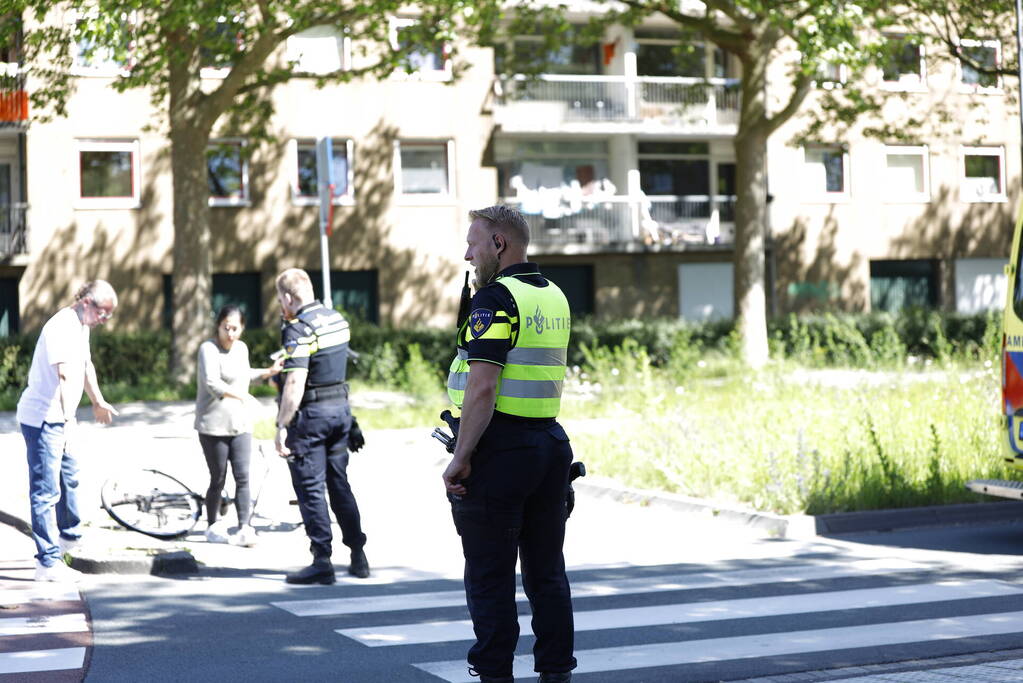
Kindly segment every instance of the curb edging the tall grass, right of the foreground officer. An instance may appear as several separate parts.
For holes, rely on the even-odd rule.
[[[757,510],[692,498],[680,494],[632,489],[618,486],[611,480],[582,482],[572,485],[578,493],[607,498],[622,503],[648,505],[683,514],[711,517],[748,527],[770,536],[807,539],[814,536],[884,533],[899,529],[973,525],[988,521],[1023,520],[1023,505],[1019,501],[996,503],[957,503],[928,507],[907,507],[889,510],[863,510],[831,514],[772,514]]]

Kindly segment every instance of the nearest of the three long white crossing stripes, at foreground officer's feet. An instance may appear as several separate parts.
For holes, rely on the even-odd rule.
[[[1011,611],[815,631],[605,647],[576,651],[579,666],[573,673],[589,674],[671,667],[1020,632],[1023,632],[1023,611]],[[471,683],[476,680],[466,672],[464,659],[428,662],[412,666],[449,683]],[[516,656],[514,666],[516,678],[536,676],[533,673],[533,657],[530,655]]]

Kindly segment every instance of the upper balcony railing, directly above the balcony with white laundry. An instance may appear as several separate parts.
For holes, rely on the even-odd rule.
[[[506,132],[735,135],[739,125],[739,81],[726,79],[516,76],[495,81],[494,96]]]

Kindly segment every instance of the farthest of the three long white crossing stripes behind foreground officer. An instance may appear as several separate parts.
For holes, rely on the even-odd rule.
[[[673,574],[639,579],[608,579],[572,584],[572,597],[608,597],[636,593],[693,590],[723,586],[752,586],[768,583],[796,583],[875,574],[890,575],[924,568],[923,564],[897,559],[861,559],[842,564],[800,564],[760,570],[738,570],[722,573]],[[516,600],[525,602],[519,591]],[[465,604],[465,593],[436,591],[432,593],[406,593],[404,595],[374,595],[369,597],[332,598],[326,600],[283,600],[271,602],[275,607],[296,617],[332,617],[405,609],[431,609],[458,607]]]

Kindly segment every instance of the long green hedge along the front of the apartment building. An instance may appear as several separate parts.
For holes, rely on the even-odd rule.
[[[935,311],[890,314],[824,314],[787,316],[770,321],[772,356],[791,358],[811,366],[869,366],[900,364],[907,355],[943,360],[954,357],[995,359],[1000,338],[997,314],[960,315]],[[572,329],[569,363],[582,365],[582,346],[618,347],[633,339],[655,365],[668,363],[679,347],[693,353],[732,353],[731,322],[686,323],[661,320],[579,320]],[[350,376],[380,379],[393,376],[394,367],[408,361],[409,349],[418,347],[427,366],[438,377],[446,374],[452,356],[454,332],[450,329],[393,329],[371,323],[352,325],[352,349],[358,354],[349,366]],[[254,367],[269,364],[279,347],[276,329],[248,329]],[[107,332],[93,336],[93,360],[104,386],[167,386],[170,333],[161,331]],[[25,386],[36,335],[0,338],[0,394]],[[394,367],[392,367],[394,366]],[[187,393],[182,390],[182,393]]]

